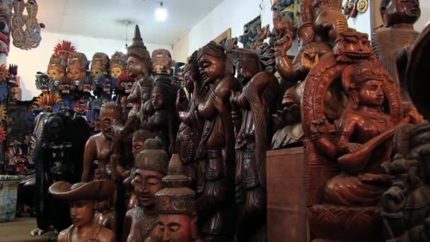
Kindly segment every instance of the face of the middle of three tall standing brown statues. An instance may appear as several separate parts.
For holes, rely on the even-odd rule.
[[[215,81],[225,73],[225,64],[222,59],[203,54],[199,59],[199,71],[204,82]]]

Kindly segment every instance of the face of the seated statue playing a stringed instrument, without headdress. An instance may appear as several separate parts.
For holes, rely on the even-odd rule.
[[[379,107],[383,104],[383,82],[376,80],[369,80],[361,84],[358,90],[360,105],[368,107]]]

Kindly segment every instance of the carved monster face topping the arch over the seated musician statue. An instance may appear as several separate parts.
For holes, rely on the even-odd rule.
[[[353,63],[373,57],[368,35],[356,31],[341,33],[333,48],[337,61]]]

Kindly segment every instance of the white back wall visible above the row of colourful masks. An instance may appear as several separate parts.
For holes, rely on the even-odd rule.
[[[104,52],[110,57],[115,51],[123,51],[125,46],[124,40],[109,40],[49,32],[42,32],[42,42],[40,42],[39,47],[33,50],[21,50],[13,47],[11,44],[11,51],[9,52],[7,62],[18,65],[18,76],[21,76],[23,100],[30,100],[34,96],[39,96],[40,91],[35,86],[35,74],[37,71],[46,73],[55,45],[61,43],[63,40],[71,41],[72,45],[76,47],[76,51],[86,54],[89,61],[91,61],[95,52]],[[130,43],[131,41],[129,41],[129,45]],[[169,45],[156,45],[146,42],[145,45],[150,54],[158,48],[164,48],[171,52]]]

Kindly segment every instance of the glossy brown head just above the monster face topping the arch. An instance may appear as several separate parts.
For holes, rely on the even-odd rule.
[[[334,42],[340,33],[348,30],[347,18],[345,18],[341,9],[322,7],[318,11],[313,23],[315,32],[319,35],[326,36]]]

